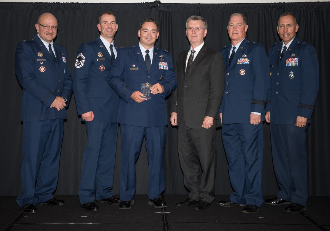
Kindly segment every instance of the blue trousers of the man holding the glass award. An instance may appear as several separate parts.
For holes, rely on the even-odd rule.
[[[149,199],[156,199],[165,189],[164,182],[164,148],[166,126],[138,127],[120,125],[121,165],[120,165],[120,200],[134,199],[136,190],[135,162],[139,157],[143,137],[146,137],[146,148],[149,163]]]

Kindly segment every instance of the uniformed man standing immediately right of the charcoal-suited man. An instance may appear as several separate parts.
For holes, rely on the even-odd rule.
[[[235,13],[229,17],[231,45],[221,50],[226,65],[225,90],[220,106],[222,141],[234,189],[224,207],[246,205],[242,212],[257,212],[263,203],[263,134],[269,83],[264,47],[249,42],[247,19]]]

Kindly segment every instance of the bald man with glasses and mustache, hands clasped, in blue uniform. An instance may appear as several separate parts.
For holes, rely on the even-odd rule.
[[[37,212],[36,204],[62,206],[53,193],[58,180],[65,108],[72,78],[65,49],[53,42],[57,20],[44,13],[35,24],[37,35],[17,45],[15,72],[23,88],[22,191],[17,204],[23,213]]]

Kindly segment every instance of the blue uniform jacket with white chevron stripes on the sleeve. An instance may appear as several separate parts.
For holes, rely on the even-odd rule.
[[[93,111],[92,122],[117,123],[119,97],[108,84],[111,66],[111,55],[100,38],[79,47],[74,95],[78,114]]]

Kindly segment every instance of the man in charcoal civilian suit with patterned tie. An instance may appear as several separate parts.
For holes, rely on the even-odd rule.
[[[186,21],[190,48],[178,56],[178,88],[172,96],[171,123],[178,126],[178,152],[189,196],[179,207],[206,210],[215,198],[215,131],[224,89],[220,52],[207,47],[207,22],[191,16]],[[200,176],[201,174],[201,176]]]

